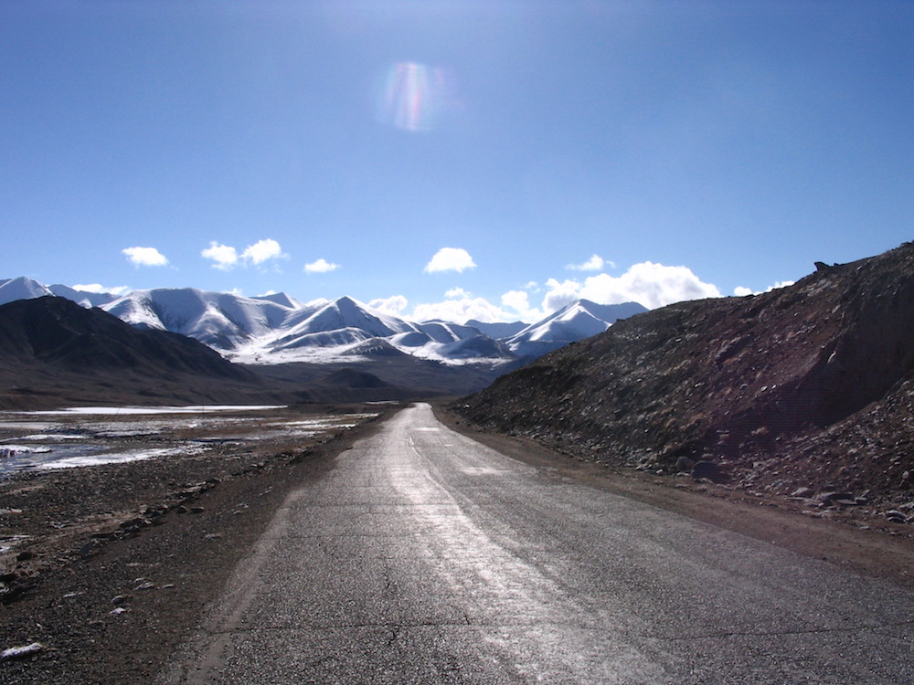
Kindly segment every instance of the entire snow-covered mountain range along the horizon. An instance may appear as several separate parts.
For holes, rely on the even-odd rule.
[[[243,364],[345,364],[408,355],[446,365],[515,367],[646,311],[635,302],[578,300],[527,325],[413,322],[343,297],[303,304],[283,293],[242,297],[193,288],[110,293],[0,280],[0,304],[54,295],[98,307],[139,329],[180,333]]]

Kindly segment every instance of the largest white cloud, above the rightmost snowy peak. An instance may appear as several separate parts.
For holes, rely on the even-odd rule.
[[[547,281],[543,299],[545,311],[556,311],[574,300],[584,298],[600,304],[640,302],[656,309],[673,302],[720,297],[720,290],[699,279],[687,267],[667,267],[645,261],[634,264],[622,276],[598,274],[580,283],[577,280]]]

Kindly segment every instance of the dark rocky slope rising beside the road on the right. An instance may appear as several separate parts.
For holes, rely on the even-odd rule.
[[[907,489],[914,243],[817,268],[790,288],[618,321],[454,408],[611,464],[707,460],[780,494]]]

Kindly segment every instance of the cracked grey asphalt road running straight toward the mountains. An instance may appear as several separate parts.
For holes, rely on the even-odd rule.
[[[388,420],[164,682],[914,683],[914,595]]]

